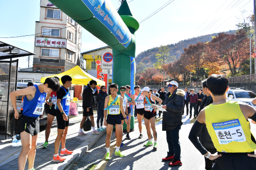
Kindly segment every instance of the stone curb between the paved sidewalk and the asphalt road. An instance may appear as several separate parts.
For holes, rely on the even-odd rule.
[[[106,132],[107,130],[104,129],[99,135],[90,136],[74,150],[72,155],[67,156],[67,159],[68,157],[70,158],[67,162],[64,161],[63,163],[58,163],[52,169],[70,169]]]

